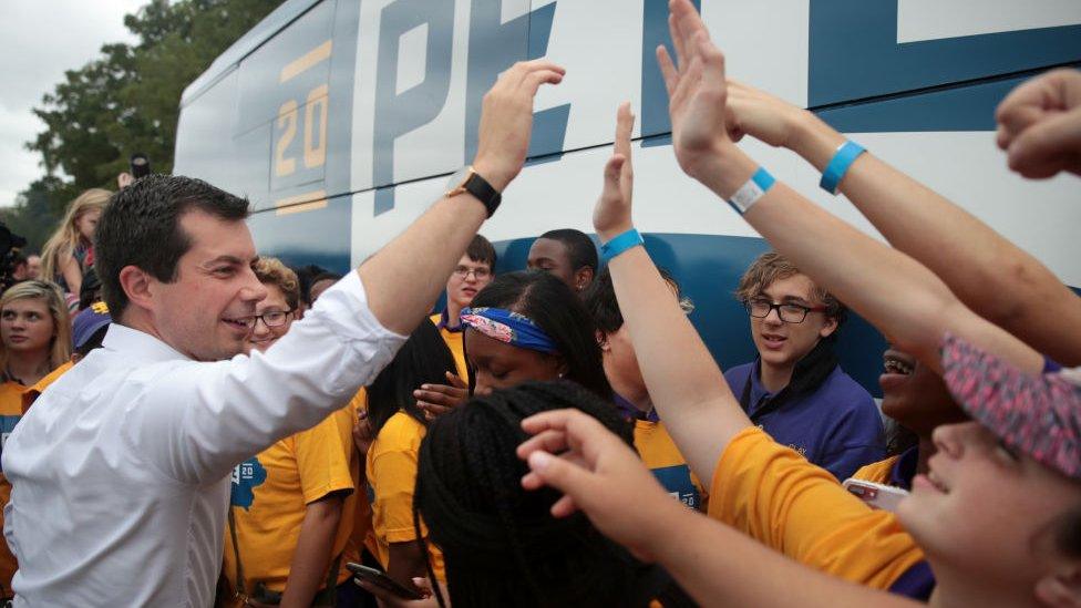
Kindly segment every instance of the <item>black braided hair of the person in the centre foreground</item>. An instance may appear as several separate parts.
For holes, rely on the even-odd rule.
[[[522,420],[564,408],[586,412],[632,444],[632,427],[611,403],[568,381],[475,396],[429,426],[418,462],[414,526],[420,529],[423,518],[425,542],[443,552],[454,606],[646,606],[675,586],[584,515],[553,517],[557,491],[522,487],[528,471],[515,453],[527,437]]]

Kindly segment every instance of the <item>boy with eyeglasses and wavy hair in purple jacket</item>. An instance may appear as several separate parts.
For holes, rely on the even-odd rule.
[[[885,457],[878,409],[832,349],[844,305],[775,251],[751,264],[735,295],[759,357],[724,379],[751,421],[841,481]]]

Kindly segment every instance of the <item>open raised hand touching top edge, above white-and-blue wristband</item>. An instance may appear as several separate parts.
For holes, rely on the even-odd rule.
[[[702,179],[723,153],[734,148],[725,126],[724,55],[710,42],[689,0],[671,0],[669,8],[677,61],[663,45],[657,48],[657,61],[668,90],[672,145],[683,172]]]

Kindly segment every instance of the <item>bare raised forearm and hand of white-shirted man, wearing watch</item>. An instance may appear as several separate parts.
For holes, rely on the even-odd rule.
[[[503,192],[522,171],[533,126],[533,99],[564,70],[543,60],[516,63],[484,95],[473,168]],[[361,265],[368,306],[391,331],[409,334],[446,285],[446,277],[487,217],[470,194],[444,197]]]

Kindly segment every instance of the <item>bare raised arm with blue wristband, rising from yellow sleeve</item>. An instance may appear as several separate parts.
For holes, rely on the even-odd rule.
[[[605,166],[604,192],[593,218],[605,244],[634,227],[634,123],[628,104],[622,104],[615,154]],[[751,421],[646,249],[634,247],[616,256],[608,269],[649,395],[691,471],[709,483],[729,440]],[[679,415],[668,415],[677,410]]]

